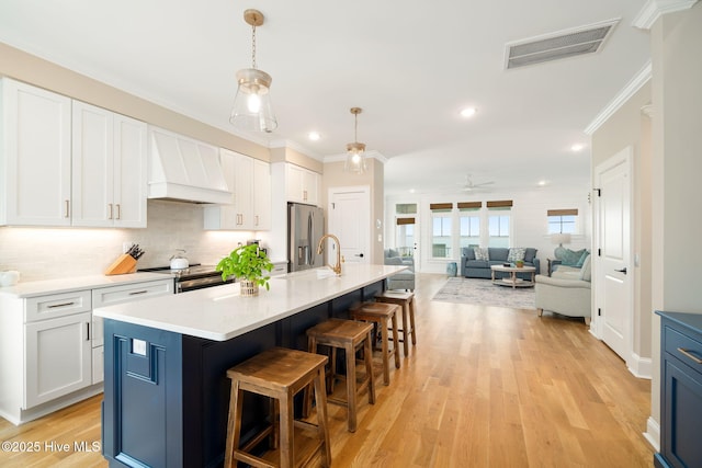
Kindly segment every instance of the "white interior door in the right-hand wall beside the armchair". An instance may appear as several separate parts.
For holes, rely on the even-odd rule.
[[[633,332],[631,258],[631,148],[597,168],[598,265],[596,267],[600,338],[629,362]]]

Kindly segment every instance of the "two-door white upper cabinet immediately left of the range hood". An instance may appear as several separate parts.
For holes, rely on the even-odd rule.
[[[79,101],[72,121],[72,225],[146,227],[146,124]]]

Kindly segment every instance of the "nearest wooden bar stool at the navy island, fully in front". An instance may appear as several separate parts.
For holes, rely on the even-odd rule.
[[[239,460],[254,467],[292,468],[307,464],[317,450],[321,452],[322,466],[331,465],[329,427],[327,425],[327,389],[325,387],[327,361],[326,356],[319,354],[273,347],[227,370],[227,377],[231,379],[231,396],[225,467],[235,467]],[[295,395],[313,383],[317,406],[317,424],[295,420],[293,413]],[[271,398],[274,411],[271,415],[271,425],[257,434],[245,446],[239,447],[244,391]],[[279,413],[280,422],[278,421]],[[314,443],[305,444],[307,449],[301,449],[298,454],[295,450],[295,426],[313,430],[315,433]],[[276,430],[280,431],[280,444]],[[302,434],[298,435],[302,441]],[[250,454],[251,449],[267,436],[272,438],[271,448],[279,448],[278,445],[280,445],[280,463],[269,461]],[[267,456],[267,458],[272,457]]]

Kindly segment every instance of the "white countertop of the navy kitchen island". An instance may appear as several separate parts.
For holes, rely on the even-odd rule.
[[[270,290],[261,287],[254,297],[240,296],[239,285],[229,284],[101,307],[93,313],[159,330],[226,341],[403,270],[406,266],[344,263],[341,276],[333,275],[328,267],[274,276],[269,281]]]

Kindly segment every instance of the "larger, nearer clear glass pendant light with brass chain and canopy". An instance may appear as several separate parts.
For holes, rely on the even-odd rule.
[[[273,113],[269,93],[273,79],[265,71],[256,68],[256,26],[263,24],[263,13],[246,10],[244,20],[251,25],[251,68],[237,71],[239,89],[234,99],[229,122],[235,127],[249,132],[273,132],[278,121]]]

